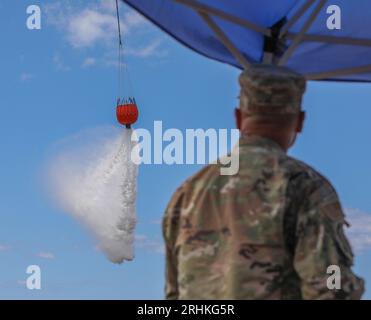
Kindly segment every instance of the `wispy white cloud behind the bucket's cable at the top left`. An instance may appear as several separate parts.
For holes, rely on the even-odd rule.
[[[114,1],[95,0],[89,2],[56,1],[45,5],[47,23],[55,26],[73,48],[89,49],[103,47],[106,52],[117,48],[117,17]],[[122,7],[121,7],[122,9]],[[135,11],[120,10],[121,32],[125,54],[139,58],[163,57],[167,52],[161,48],[159,39],[148,37],[150,23]],[[147,36],[146,36],[147,35]],[[151,40],[148,40],[151,38]],[[144,40],[146,39],[146,40]],[[138,44],[139,42],[139,44]],[[135,43],[135,47],[131,47]],[[95,64],[104,59],[96,59]],[[105,63],[105,65],[110,65]]]

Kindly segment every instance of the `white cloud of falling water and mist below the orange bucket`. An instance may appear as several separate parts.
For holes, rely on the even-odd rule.
[[[137,165],[133,131],[87,130],[56,146],[48,170],[59,206],[78,219],[114,263],[134,258]]]

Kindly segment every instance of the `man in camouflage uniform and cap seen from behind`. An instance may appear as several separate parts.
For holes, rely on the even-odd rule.
[[[335,189],[286,154],[302,129],[305,79],[255,66],[240,85],[239,172],[205,167],[166,209],[166,297],[360,299]],[[331,265],[340,267],[341,289],[327,287]]]

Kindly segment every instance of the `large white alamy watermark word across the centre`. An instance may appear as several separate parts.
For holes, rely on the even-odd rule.
[[[153,134],[135,129],[131,160],[136,164],[221,164],[221,175],[235,175],[239,170],[238,129],[163,129],[154,121]],[[229,142],[228,143],[228,138]],[[228,154],[228,145],[233,146]]]

